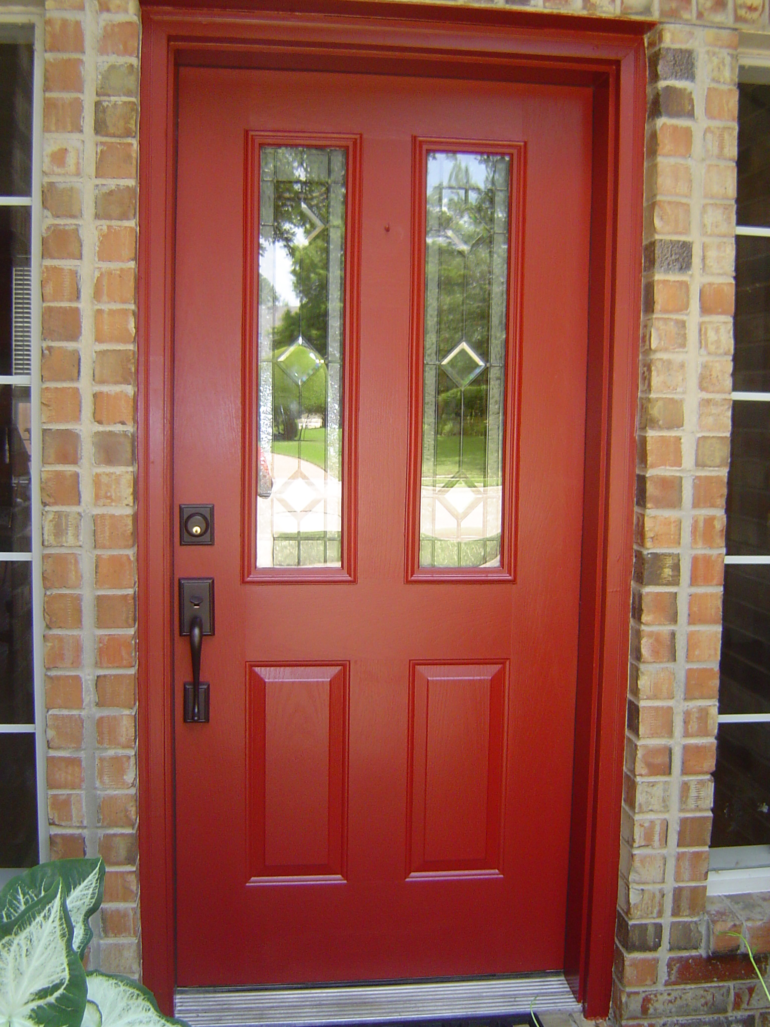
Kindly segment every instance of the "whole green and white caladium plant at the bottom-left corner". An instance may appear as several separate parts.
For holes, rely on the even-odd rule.
[[[182,1027],[136,981],[83,968],[104,886],[101,859],[59,860],[0,891],[0,1027]]]

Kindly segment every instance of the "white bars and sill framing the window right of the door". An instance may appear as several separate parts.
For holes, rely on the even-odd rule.
[[[770,84],[770,42],[759,33],[741,33],[739,81]],[[770,237],[770,228],[736,225],[735,235]],[[733,391],[733,403],[770,403],[768,392]],[[768,565],[770,554],[763,556],[726,556],[725,565]],[[720,724],[770,723],[770,713],[720,714]],[[706,895],[745,895],[770,891],[770,845],[742,845],[713,848],[709,853]]]

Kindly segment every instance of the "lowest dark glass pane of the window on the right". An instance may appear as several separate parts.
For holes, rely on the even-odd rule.
[[[711,845],[770,844],[770,724],[720,724]]]

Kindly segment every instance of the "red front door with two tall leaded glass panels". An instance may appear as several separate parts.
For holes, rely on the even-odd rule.
[[[184,68],[178,983],[561,968],[591,102]]]

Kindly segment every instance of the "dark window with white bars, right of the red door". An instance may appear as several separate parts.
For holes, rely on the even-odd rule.
[[[770,890],[770,68],[741,70],[735,351],[709,893]]]

